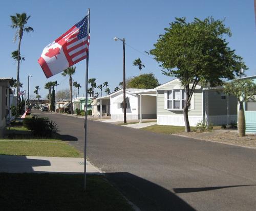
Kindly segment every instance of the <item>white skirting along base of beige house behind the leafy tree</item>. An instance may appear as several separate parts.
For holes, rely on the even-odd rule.
[[[203,120],[202,116],[188,116],[189,125],[196,126]],[[157,124],[185,126],[183,116],[157,116]]]

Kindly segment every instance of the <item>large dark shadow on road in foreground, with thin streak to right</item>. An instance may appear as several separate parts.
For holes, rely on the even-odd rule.
[[[225,188],[255,185],[238,185],[203,188],[175,188],[169,191],[158,184],[128,172],[105,173],[106,177],[141,210],[196,210],[176,194],[212,191]]]

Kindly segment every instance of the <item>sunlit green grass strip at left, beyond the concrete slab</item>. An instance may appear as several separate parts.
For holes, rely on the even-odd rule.
[[[53,157],[81,157],[82,155],[66,142],[33,140],[1,140],[0,154]]]

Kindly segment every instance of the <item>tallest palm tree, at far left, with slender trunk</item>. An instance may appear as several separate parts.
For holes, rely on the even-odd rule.
[[[16,29],[16,33],[15,33],[15,36],[14,36],[14,41],[17,40],[17,38],[19,39],[18,41],[18,52],[17,52],[17,61],[18,61],[18,65],[17,65],[17,96],[18,96],[18,92],[19,92],[19,59],[22,59],[20,58],[20,43],[22,42],[22,37],[23,37],[23,33],[24,32],[34,32],[33,28],[31,27],[27,27],[26,24],[28,23],[28,20],[30,18],[30,15],[27,16],[26,13],[22,13],[22,14],[19,14],[19,13],[16,13],[16,15],[11,15],[11,21],[12,21],[12,24],[11,24],[11,28],[12,29]],[[16,107],[18,108],[18,97],[17,97],[17,102],[16,102]]]

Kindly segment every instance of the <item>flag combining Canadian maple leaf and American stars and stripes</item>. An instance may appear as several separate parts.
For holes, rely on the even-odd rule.
[[[89,40],[87,15],[42,51],[38,63],[46,77],[51,77],[86,59]]]

